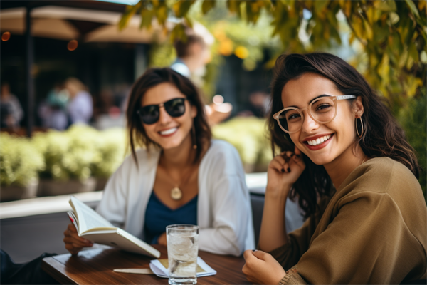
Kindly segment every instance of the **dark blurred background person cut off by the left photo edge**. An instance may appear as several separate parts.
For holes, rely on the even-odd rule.
[[[23,118],[23,110],[18,98],[11,94],[9,83],[1,83],[0,128],[16,129]]]

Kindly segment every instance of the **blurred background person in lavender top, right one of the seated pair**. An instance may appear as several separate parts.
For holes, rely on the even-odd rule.
[[[88,89],[77,78],[70,77],[64,83],[70,100],[67,105],[69,124],[88,124],[93,115],[93,99]]]

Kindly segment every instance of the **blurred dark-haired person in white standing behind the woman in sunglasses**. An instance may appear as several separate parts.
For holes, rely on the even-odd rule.
[[[196,86],[201,87],[203,85],[203,76],[206,73],[206,63],[211,60],[210,47],[214,43],[214,36],[199,23],[194,23],[193,28],[187,27],[185,36],[185,39],[179,39],[174,42],[177,58],[172,63],[171,68],[183,76],[191,78],[191,81]],[[223,103],[223,98],[206,105],[205,108],[208,123],[211,126],[226,120],[231,115],[231,110],[233,110],[233,106],[230,103]]]

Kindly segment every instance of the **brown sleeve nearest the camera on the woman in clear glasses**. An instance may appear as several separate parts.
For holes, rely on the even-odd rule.
[[[422,259],[421,245],[386,193],[359,192],[342,199],[336,210],[293,267],[292,274],[308,284],[399,284],[405,277],[399,274]],[[281,284],[304,284],[286,278]]]

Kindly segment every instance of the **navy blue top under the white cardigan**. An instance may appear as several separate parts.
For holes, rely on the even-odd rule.
[[[169,224],[197,224],[197,196],[177,209],[170,209],[153,191],[145,210],[145,242],[157,244]]]

